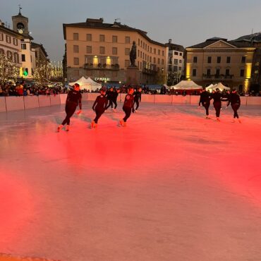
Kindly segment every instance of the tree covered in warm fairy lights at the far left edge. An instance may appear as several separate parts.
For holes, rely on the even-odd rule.
[[[5,84],[9,80],[16,81],[19,75],[19,68],[14,66],[11,59],[0,53],[0,83]]]

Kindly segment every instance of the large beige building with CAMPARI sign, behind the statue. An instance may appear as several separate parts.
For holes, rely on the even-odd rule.
[[[90,76],[94,80],[126,83],[130,49],[136,44],[139,83],[165,83],[168,47],[147,37],[147,32],[121,23],[87,19],[63,24],[68,80]]]

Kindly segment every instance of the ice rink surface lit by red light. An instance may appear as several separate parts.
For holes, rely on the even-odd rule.
[[[0,113],[0,253],[63,261],[261,260],[261,107],[242,123],[140,104]]]

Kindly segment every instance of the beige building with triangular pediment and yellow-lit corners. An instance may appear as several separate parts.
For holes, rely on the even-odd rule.
[[[223,83],[248,91],[255,47],[248,42],[211,38],[186,48],[186,79],[202,86]]]

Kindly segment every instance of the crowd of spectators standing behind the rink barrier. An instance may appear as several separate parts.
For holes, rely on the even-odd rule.
[[[133,86],[133,85],[132,85]],[[120,89],[121,93],[127,93],[128,87],[130,85],[120,85],[115,86],[114,89]],[[134,86],[138,89],[138,87],[142,87],[142,93],[148,95],[200,95],[200,90],[169,90],[165,85],[159,88],[151,88],[146,85],[137,85]],[[18,82],[15,85],[12,83],[6,83],[5,85],[0,84],[0,96],[27,96],[27,95],[57,95],[57,94],[66,94],[70,90],[69,87],[65,87],[64,85],[56,84],[56,85],[43,85],[41,87],[34,84],[26,84],[25,81]],[[81,90],[81,92],[90,92],[89,90]],[[99,92],[99,89],[92,91]],[[241,96],[261,96],[261,92],[238,92]]]

